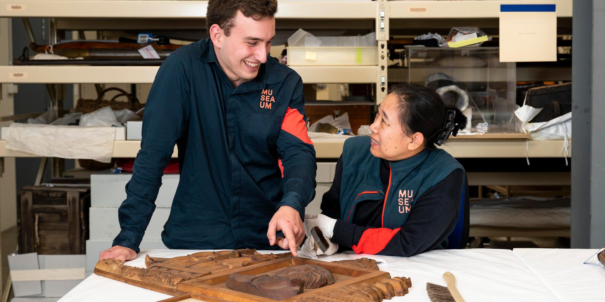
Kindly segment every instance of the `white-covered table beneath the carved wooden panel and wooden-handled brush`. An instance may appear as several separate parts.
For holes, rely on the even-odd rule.
[[[137,259],[126,265],[145,267],[145,255],[177,257],[202,250],[154,249],[142,251]],[[272,251],[259,251],[269,253]],[[275,251],[273,251],[275,252]],[[391,277],[411,277],[412,288],[404,297],[393,302],[430,301],[426,283],[445,285],[443,272],[452,272],[457,287],[466,301],[560,301],[523,260],[508,249],[450,249],[430,251],[413,257],[354,254],[344,252],[320,260],[332,261],[373,257],[386,263],[379,264]],[[604,269],[605,270],[605,269]],[[137,288],[120,281],[90,275],[68,292],[60,302],[71,301],[159,301],[171,296],[148,289]]]

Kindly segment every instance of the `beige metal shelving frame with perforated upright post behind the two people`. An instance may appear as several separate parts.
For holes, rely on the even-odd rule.
[[[546,2],[557,5],[558,17],[572,16],[572,0]],[[495,19],[499,17],[500,4],[540,3],[545,0],[281,1],[276,19],[278,24],[280,20],[303,22],[307,19],[332,21],[331,25],[373,21],[379,51],[377,66],[290,67],[305,83],[375,83],[379,103],[386,95],[388,83],[390,19]],[[208,1],[1,0],[0,17],[53,18],[52,26],[64,24],[63,29],[70,30],[87,22],[101,27],[110,22],[114,24],[112,28],[118,29],[120,24],[133,25],[137,20],[151,19],[157,20],[158,24],[171,19],[193,24],[197,19],[205,18],[207,5]],[[158,66],[0,66],[0,83],[152,83],[157,69]],[[531,71],[525,72],[531,74]],[[139,144],[138,141],[116,141],[114,156],[134,157]],[[342,144],[342,140],[316,140],[318,158],[338,158]],[[445,149],[458,158],[560,157],[563,149],[563,141],[529,141],[529,152],[525,140],[456,140],[448,145]],[[0,141],[0,157],[13,156],[31,155],[7,150],[5,141]]]

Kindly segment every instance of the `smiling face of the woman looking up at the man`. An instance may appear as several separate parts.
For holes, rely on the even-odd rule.
[[[424,149],[422,133],[416,132],[411,136],[405,133],[399,121],[397,97],[392,93],[380,104],[370,129],[372,130],[370,152],[378,158],[399,161],[410,158]]]

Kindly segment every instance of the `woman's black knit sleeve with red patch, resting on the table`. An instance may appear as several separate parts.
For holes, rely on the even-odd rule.
[[[339,220],[333,242],[365,254],[411,256],[438,248],[456,227],[464,172],[454,170],[414,202],[407,222],[395,230]]]

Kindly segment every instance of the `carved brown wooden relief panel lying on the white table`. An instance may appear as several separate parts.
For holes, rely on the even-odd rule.
[[[100,260],[95,274],[174,295],[209,302],[380,302],[408,293],[410,278],[391,278],[371,259],[320,260],[254,249],[145,257],[146,268]]]

